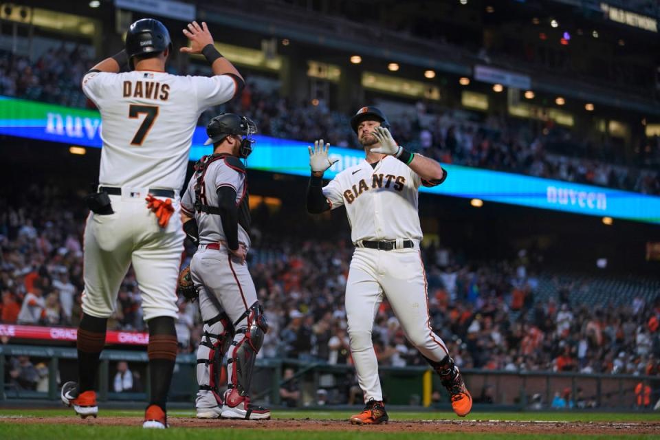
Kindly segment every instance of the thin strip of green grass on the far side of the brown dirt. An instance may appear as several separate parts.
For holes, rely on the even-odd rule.
[[[21,417],[61,417],[72,416],[74,412],[69,409],[5,409],[0,408],[0,419],[8,416]],[[99,417],[140,417],[144,413],[142,410],[104,410],[99,411]],[[353,412],[347,411],[290,411],[274,410],[274,419],[328,419],[344,420],[348,419]],[[461,419],[456,417],[453,412],[405,412],[390,411],[388,415],[391,420],[517,420],[517,421],[613,421],[613,422],[641,422],[641,421],[660,421],[660,415],[657,412],[472,412],[470,415]],[[195,417],[195,411],[190,410],[170,410],[168,417]]]

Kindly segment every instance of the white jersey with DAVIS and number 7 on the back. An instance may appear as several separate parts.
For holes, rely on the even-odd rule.
[[[199,115],[230,100],[236,83],[228,75],[89,72],[83,91],[102,118],[99,183],[179,190]]]

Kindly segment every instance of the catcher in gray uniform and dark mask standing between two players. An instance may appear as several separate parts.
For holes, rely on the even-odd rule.
[[[179,276],[179,292],[188,297],[199,293],[204,321],[197,350],[197,417],[269,419],[270,410],[252,405],[249,395],[256,353],[268,329],[245,263],[250,208],[241,158],[252,151],[256,125],[223,113],[210,120],[206,133],[205,145],[213,144],[213,154],[195,164],[181,198],[184,230],[199,242],[190,267]],[[221,395],[219,373],[228,350],[228,389]]]

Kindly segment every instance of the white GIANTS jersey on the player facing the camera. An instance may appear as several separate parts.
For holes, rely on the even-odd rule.
[[[422,239],[417,201],[422,179],[408,165],[385,156],[373,168],[363,160],[323,187],[331,208],[346,206],[353,243]],[[424,182],[429,185],[430,183]]]

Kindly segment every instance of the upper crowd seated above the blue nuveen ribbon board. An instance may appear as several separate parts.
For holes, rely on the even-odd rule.
[[[91,106],[79,87],[90,65],[89,54],[78,46],[51,48],[34,62],[0,52],[0,95],[69,107]],[[184,72],[170,69],[177,74],[208,74],[208,67],[199,65],[190,65]],[[329,110],[322,101],[291,102],[276,91],[259,89],[249,78],[248,83],[240,100],[206,111],[200,124],[220,111],[235,111],[249,115],[264,135],[309,141],[322,138],[338,146],[358,147],[349,115]],[[462,111],[417,102],[415,111],[391,117],[391,122],[399,143],[444,163],[660,194],[659,137],[637,148],[635,163],[646,166],[643,169],[622,165],[629,162],[610,139],[598,142],[604,145],[599,147],[551,120],[543,124],[504,116],[474,120]]]

